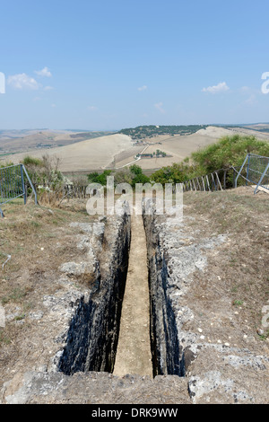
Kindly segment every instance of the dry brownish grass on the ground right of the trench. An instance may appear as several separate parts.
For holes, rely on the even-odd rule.
[[[246,187],[187,193],[184,203],[187,215],[195,217],[192,226],[198,237],[227,234],[229,239],[221,253],[209,259],[205,276],[195,274],[200,286],[196,295],[201,298],[212,291],[213,300],[218,294],[227,297],[234,312],[239,312],[242,327],[256,333],[269,300],[269,196],[253,192]],[[264,337],[256,335],[267,336],[267,330]]]

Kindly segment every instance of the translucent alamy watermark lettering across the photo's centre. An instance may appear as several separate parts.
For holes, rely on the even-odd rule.
[[[89,215],[170,215],[183,217],[182,183],[128,183],[114,184],[108,176],[107,185],[91,183],[86,193],[90,195],[86,204]]]

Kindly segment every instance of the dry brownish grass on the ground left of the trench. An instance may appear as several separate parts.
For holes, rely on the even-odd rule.
[[[85,201],[72,201],[59,207],[23,205],[21,199],[4,207],[0,219],[0,304],[5,314],[16,312],[12,322],[0,329],[1,344],[16,344],[18,333],[27,330],[20,324],[26,312],[34,312],[40,295],[52,295],[59,266],[78,259],[74,247],[78,229],[72,222],[89,222]],[[11,256],[5,264],[7,255]],[[4,264],[4,268],[3,268]]]

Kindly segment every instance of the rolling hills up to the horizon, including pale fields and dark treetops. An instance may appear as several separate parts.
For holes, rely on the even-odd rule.
[[[20,163],[26,155],[41,158],[42,155],[48,154],[60,159],[59,168],[65,172],[115,170],[137,162],[143,171],[151,173],[161,167],[182,162],[187,156],[213,144],[221,136],[239,133],[269,140],[268,127],[269,125],[265,124],[246,127],[197,125],[189,127],[188,132],[187,127],[151,126],[123,129],[114,134],[39,131],[24,134],[21,138],[12,134],[14,137],[10,136],[8,141],[6,138],[4,140],[3,134],[0,133],[0,163]],[[142,134],[147,137],[142,137]],[[6,145],[9,146],[8,153],[4,153]],[[17,153],[16,148],[19,147],[21,150]],[[158,149],[165,156],[156,157]],[[12,155],[9,155],[10,153]],[[147,156],[139,157],[142,153]]]

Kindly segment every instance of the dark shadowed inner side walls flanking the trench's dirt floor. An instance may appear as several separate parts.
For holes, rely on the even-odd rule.
[[[157,239],[152,237],[150,220],[144,223],[148,248],[152,375],[182,376],[176,321],[166,295],[167,268]],[[128,219],[125,224],[129,224]],[[90,299],[82,298],[71,321],[58,363],[58,370],[67,375],[88,371],[113,373],[126,289],[130,227],[126,225],[121,233],[110,277],[100,277]]]

